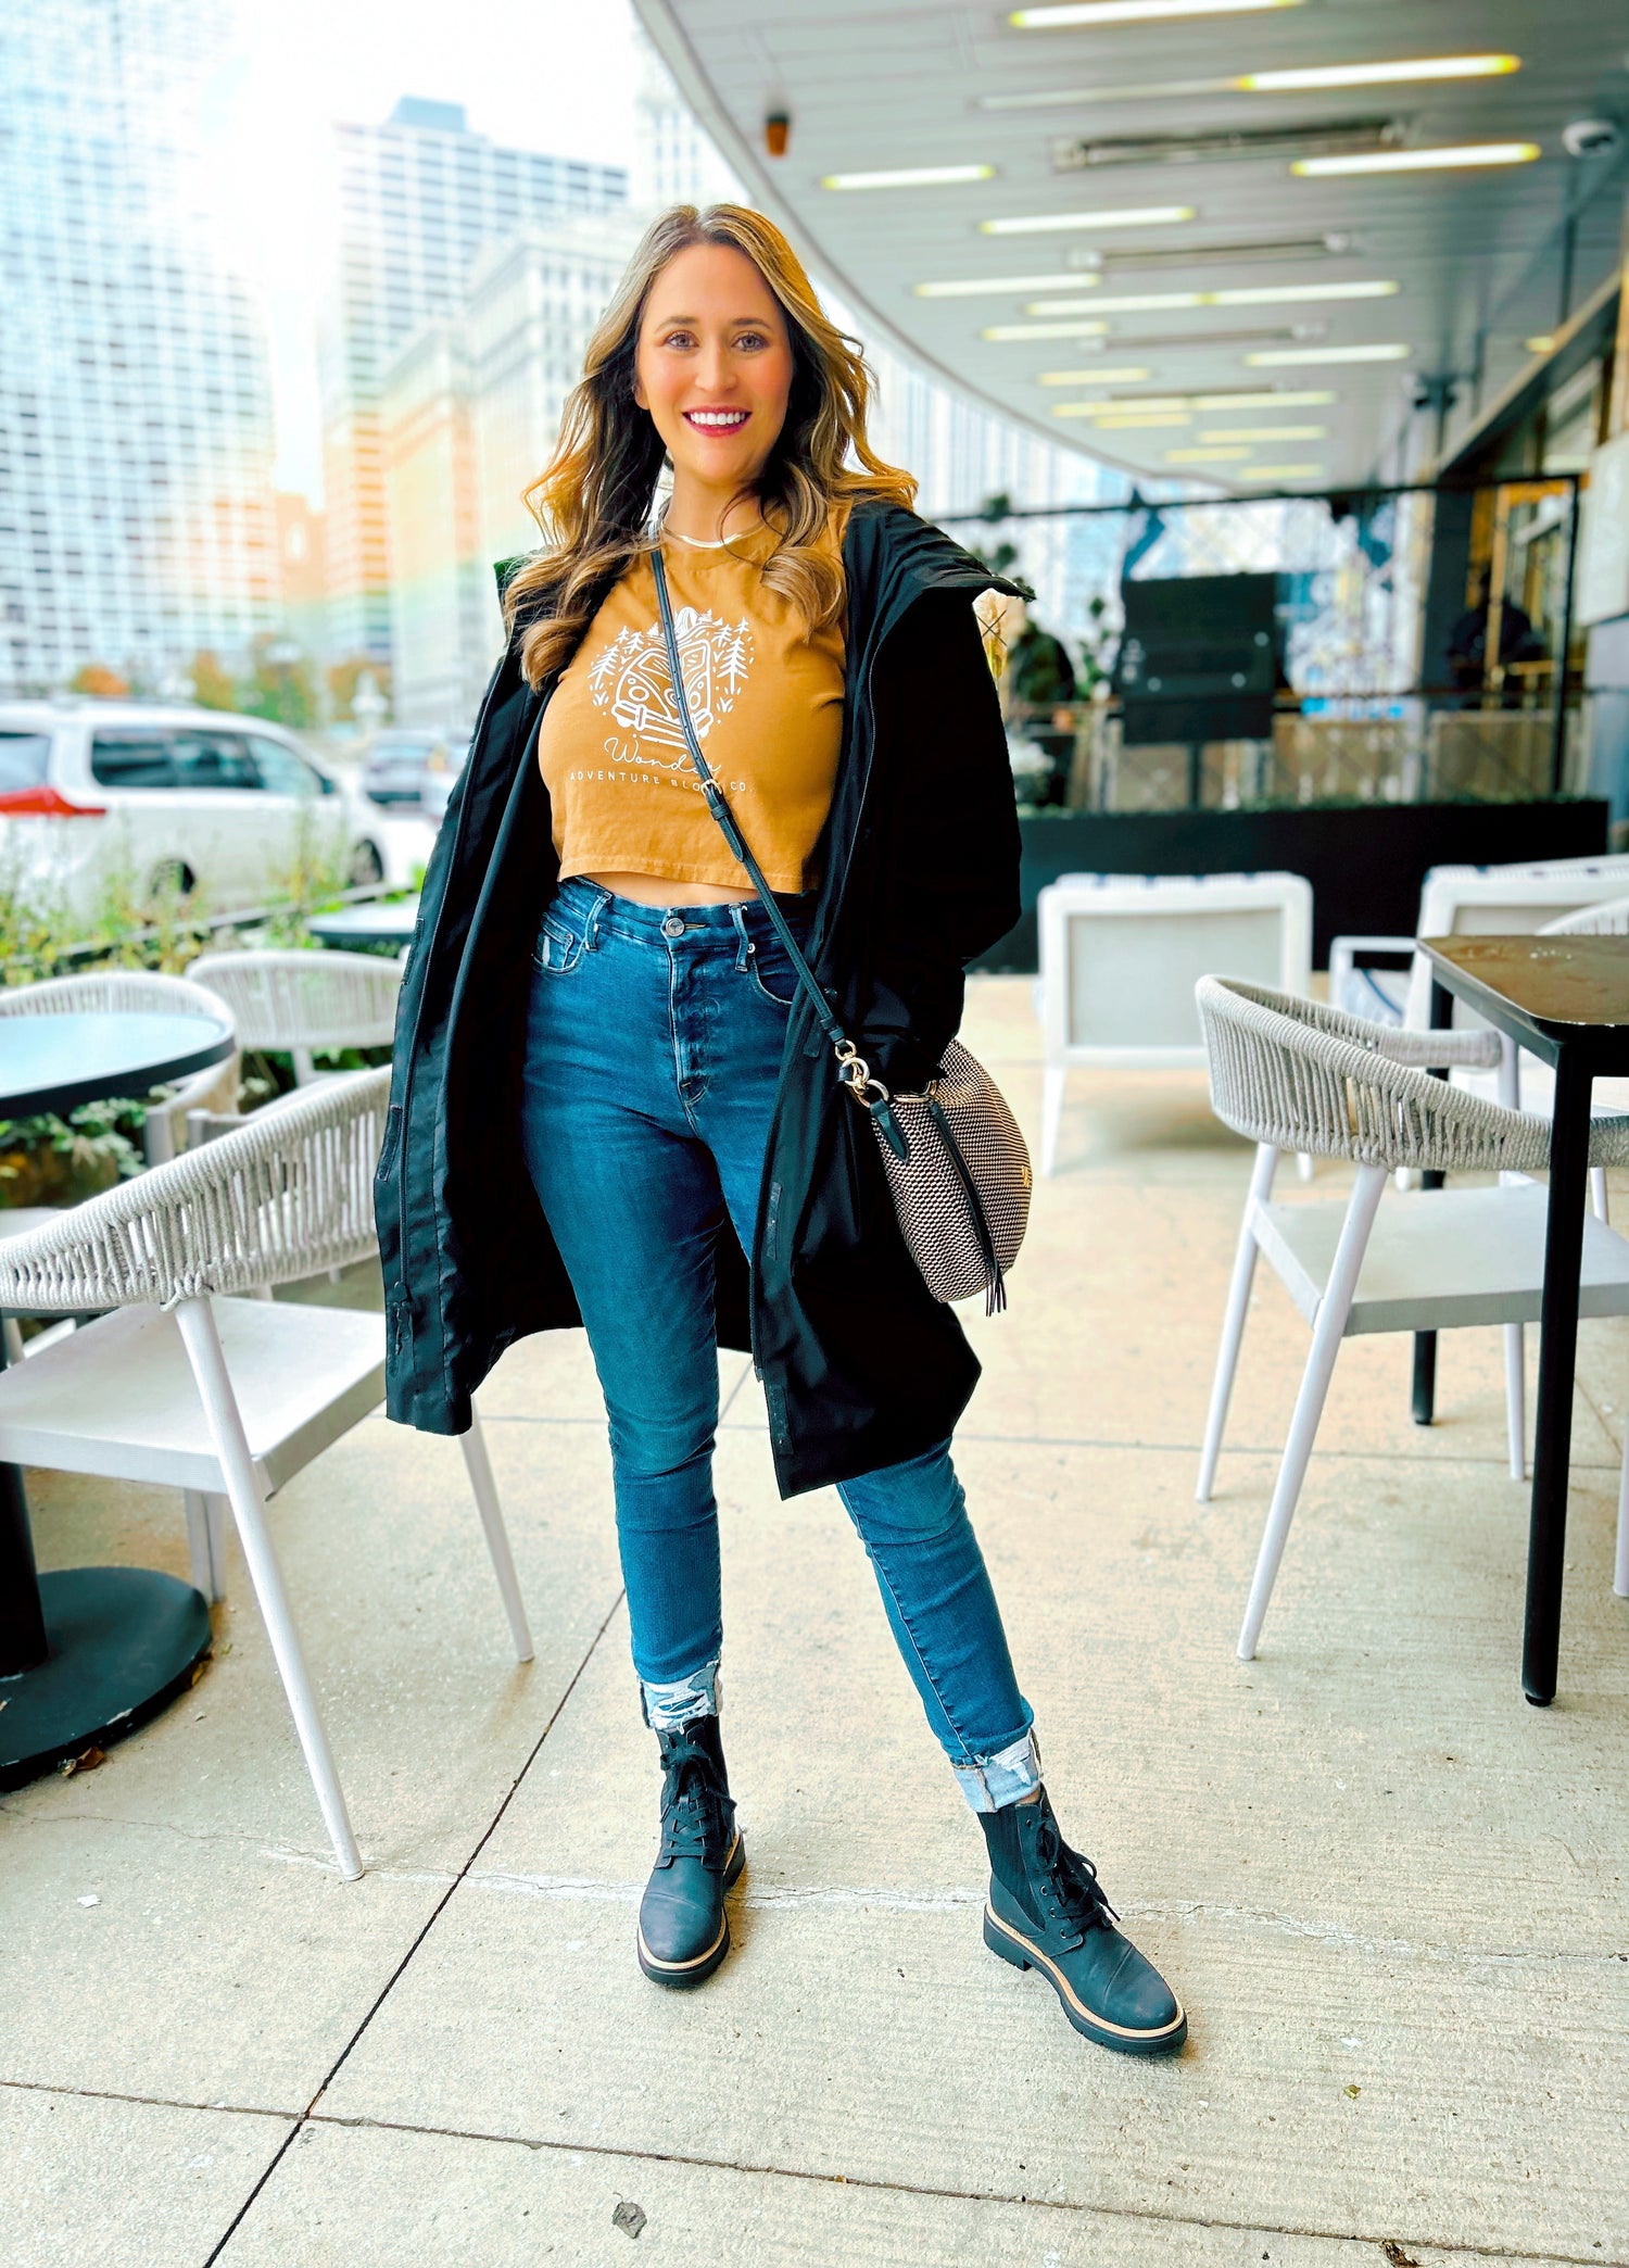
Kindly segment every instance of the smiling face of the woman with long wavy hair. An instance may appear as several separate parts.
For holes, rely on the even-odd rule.
[[[674,460],[674,508],[758,483],[792,392],[780,302],[735,245],[687,245],[651,284],[633,399]]]

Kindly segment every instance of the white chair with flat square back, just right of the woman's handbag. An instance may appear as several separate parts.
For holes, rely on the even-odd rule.
[[[1225,966],[1307,991],[1311,975],[1311,885],[1300,873],[1066,873],[1035,912],[1044,1175],[1057,1163],[1071,1068],[1198,1068],[1196,978]]]

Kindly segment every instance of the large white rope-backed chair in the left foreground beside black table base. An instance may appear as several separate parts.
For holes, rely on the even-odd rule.
[[[311,1095],[0,1243],[0,1306],[111,1309],[0,1377],[0,1461],[225,1497],[340,1873],[363,1871],[265,1499],[383,1395],[383,1315],[229,1297],[374,1250],[388,1070]],[[531,1633],[479,1422],[463,1436],[515,1656]],[[220,1560],[193,1524],[193,1572]]]

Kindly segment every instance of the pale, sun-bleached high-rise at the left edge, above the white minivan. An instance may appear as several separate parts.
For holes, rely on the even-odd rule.
[[[0,689],[179,689],[277,619],[272,411],[216,240],[220,0],[0,7]]]

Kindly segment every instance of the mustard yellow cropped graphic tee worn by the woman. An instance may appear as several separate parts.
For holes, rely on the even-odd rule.
[[[701,751],[776,891],[812,889],[842,744],[842,628],[803,635],[767,590],[758,531],[728,551],[662,547],[678,667]],[[826,542],[839,556],[839,538]],[[749,889],[701,796],[667,671],[656,578],[617,583],[542,712],[560,878],[644,873]]]

